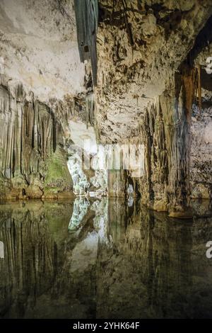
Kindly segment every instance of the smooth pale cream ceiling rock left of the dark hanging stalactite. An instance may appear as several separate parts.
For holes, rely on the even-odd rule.
[[[85,91],[73,0],[1,0],[1,72],[40,101]],[[12,79],[12,80],[11,80]]]

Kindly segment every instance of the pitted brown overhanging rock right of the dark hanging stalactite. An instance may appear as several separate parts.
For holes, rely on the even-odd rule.
[[[212,6],[210,0],[100,0],[99,6],[99,134],[102,142],[126,142],[186,59]]]

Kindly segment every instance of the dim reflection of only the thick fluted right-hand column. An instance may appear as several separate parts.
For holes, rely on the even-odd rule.
[[[148,283],[149,302],[160,308],[158,314],[167,316],[173,310],[174,315],[175,300],[172,295],[177,295],[178,292],[184,295],[192,283],[191,224],[185,227],[182,221],[171,221],[163,214],[148,213],[146,210],[141,210],[141,221],[141,253],[147,254],[141,254],[142,264],[147,268],[142,279],[146,279]],[[179,251],[182,246],[183,258]]]

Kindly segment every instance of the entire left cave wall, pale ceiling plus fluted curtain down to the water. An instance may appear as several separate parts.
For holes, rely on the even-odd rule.
[[[93,120],[73,1],[0,7],[0,198],[73,197],[69,120],[81,113]]]

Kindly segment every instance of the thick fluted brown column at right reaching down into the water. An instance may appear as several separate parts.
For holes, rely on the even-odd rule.
[[[180,74],[156,103],[151,103],[141,124],[146,146],[146,175],[141,179],[143,203],[155,210],[179,210],[189,216],[189,152],[195,69],[182,64]],[[145,186],[143,186],[145,184]]]

